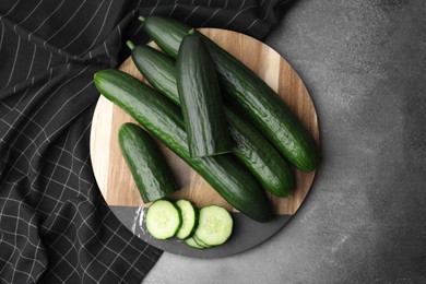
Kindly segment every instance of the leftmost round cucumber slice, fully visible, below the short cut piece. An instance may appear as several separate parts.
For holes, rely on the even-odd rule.
[[[156,239],[174,237],[181,226],[179,209],[167,200],[156,200],[146,212],[146,228]]]

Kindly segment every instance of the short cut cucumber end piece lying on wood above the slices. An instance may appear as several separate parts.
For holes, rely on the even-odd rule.
[[[118,130],[118,141],[143,202],[179,190],[164,156],[146,131],[134,123],[123,123]]]

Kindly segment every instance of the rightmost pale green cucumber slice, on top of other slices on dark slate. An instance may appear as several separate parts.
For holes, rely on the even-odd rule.
[[[226,209],[210,205],[200,210],[196,236],[208,246],[224,244],[233,233],[234,221]]]

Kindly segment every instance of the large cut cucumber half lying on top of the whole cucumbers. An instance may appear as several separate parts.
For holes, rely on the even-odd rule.
[[[199,35],[184,37],[176,70],[191,157],[230,152],[234,142],[224,116],[216,70]]]

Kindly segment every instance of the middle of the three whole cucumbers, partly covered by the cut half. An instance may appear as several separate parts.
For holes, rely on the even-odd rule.
[[[180,106],[175,60],[149,46],[135,46],[131,52],[138,70],[161,94]],[[233,153],[276,197],[288,197],[294,189],[294,176],[275,147],[248,122],[225,106],[229,131],[236,142]]]

